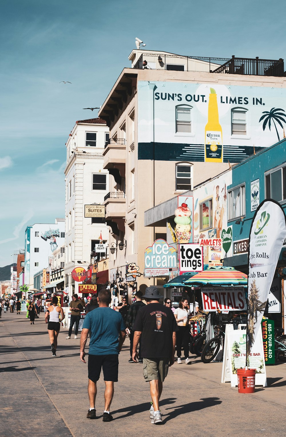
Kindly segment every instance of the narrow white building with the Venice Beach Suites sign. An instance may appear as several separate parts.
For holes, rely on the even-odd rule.
[[[87,270],[91,261],[94,264],[101,255],[106,257],[109,228],[102,205],[110,190],[102,154],[108,139],[105,120],[91,118],[77,121],[66,142],[64,272],[65,289],[70,295],[79,292],[78,283],[71,277],[73,269],[84,267]],[[101,208],[95,205],[101,205]],[[99,243],[104,244],[103,252],[97,252]]]

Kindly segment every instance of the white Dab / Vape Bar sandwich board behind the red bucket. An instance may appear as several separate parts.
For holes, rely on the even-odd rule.
[[[231,387],[237,386],[237,369],[245,367],[246,360],[246,325],[226,325],[223,347],[223,370],[221,382],[230,382]],[[256,369],[255,385],[267,386],[266,370],[262,342],[261,327],[248,359],[248,368]]]

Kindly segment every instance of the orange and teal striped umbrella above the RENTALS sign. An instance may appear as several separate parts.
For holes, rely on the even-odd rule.
[[[234,267],[214,267],[199,272],[185,281],[186,286],[247,287],[247,274]]]

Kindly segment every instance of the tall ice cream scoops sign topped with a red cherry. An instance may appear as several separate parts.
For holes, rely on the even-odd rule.
[[[178,196],[178,208],[175,210],[175,235],[178,243],[192,243],[193,197]],[[181,205],[180,205],[181,204]],[[180,206],[179,206],[180,205]]]

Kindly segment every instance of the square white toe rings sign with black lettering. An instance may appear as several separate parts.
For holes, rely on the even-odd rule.
[[[180,273],[201,272],[203,267],[203,246],[199,243],[179,244]]]

